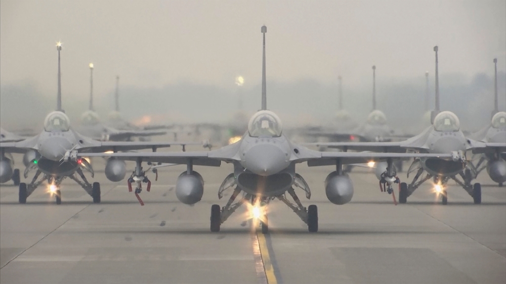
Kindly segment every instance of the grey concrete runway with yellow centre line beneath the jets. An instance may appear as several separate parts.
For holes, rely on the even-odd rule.
[[[175,195],[176,178],[185,166],[161,169],[151,192],[141,193],[145,206],[128,192],[126,181],[105,178],[103,161],[95,159],[93,166],[101,204],[93,204],[69,179],[62,186],[61,205],[44,186],[27,204],[18,204],[18,188],[2,184],[0,282],[506,282],[506,188],[495,186],[485,172],[479,177],[480,205],[450,182],[446,206],[430,183],[407,204],[395,206],[391,195],[379,191],[372,172],[356,169],[353,200],[338,206],[327,201],[323,188],[333,167],[299,165],[311,200],[296,192],[304,206],[318,206],[319,231],[309,233],[296,214],[273,201],[270,233],[257,237],[244,222],[244,208],[219,233],[209,231],[211,205],[223,206],[231,194],[218,200],[231,165],[194,167],[205,180],[202,201],[194,206]],[[154,174],[150,177],[154,180]],[[400,177],[407,180],[405,173]]]

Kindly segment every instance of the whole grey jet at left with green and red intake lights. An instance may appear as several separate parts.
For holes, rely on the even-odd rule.
[[[100,183],[91,184],[83,174],[83,170],[93,177],[94,171],[86,159],[69,161],[65,154],[68,151],[75,153],[105,152],[105,151],[132,151],[170,147],[173,145],[186,145],[185,143],[146,143],[146,142],[101,142],[83,136],[70,128],[70,121],[61,107],[61,77],[60,77],[60,51],[61,43],[57,43],[58,50],[58,99],[57,109],[48,114],[44,120],[44,131],[40,134],[18,142],[0,142],[0,180],[4,181],[12,176],[12,158],[8,153],[25,154],[29,164],[24,170],[24,177],[30,171],[36,171],[29,184],[19,183],[19,203],[26,203],[35,188],[44,181],[48,182],[49,190],[56,197],[56,203],[61,204],[60,183],[69,177],[77,182],[90,196],[94,203],[100,203]],[[7,160],[9,159],[9,160]],[[120,181],[124,178],[126,166],[124,161],[111,158],[107,160],[105,175],[111,181]],[[42,174],[41,178],[39,176]],[[79,179],[80,177],[80,179]],[[37,180],[38,179],[38,180]],[[149,186],[149,185],[148,185]]]

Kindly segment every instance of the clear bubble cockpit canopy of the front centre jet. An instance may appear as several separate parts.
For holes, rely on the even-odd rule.
[[[251,137],[281,136],[281,120],[271,111],[259,111],[248,122],[248,132]]]

